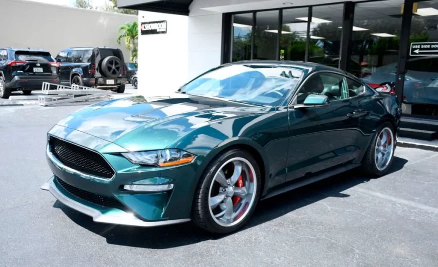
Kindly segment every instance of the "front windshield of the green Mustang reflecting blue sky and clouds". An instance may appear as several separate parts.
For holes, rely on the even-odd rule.
[[[209,71],[181,88],[191,95],[256,105],[280,105],[302,72],[285,66],[236,64]]]

